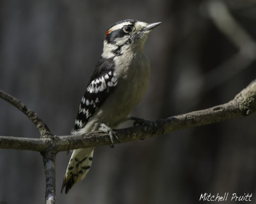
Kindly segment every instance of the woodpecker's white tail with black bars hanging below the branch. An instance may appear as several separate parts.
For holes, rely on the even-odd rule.
[[[74,184],[84,179],[92,165],[93,150],[94,148],[86,148],[76,149],[72,152],[63,179],[61,193],[65,187],[65,193],[67,194]]]

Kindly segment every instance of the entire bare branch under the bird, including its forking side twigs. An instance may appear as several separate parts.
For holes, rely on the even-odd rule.
[[[1,149],[20,149],[41,152],[43,156],[46,180],[45,201],[47,204],[55,203],[55,157],[58,152],[108,145],[109,136],[106,133],[87,133],[84,135],[52,136],[46,124],[35,112],[26,108],[18,99],[0,91],[0,98],[5,99],[36,124],[41,138],[19,138],[12,136],[0,136]],[[247,116],[256,111],[256,80],[253,80],[245,89],[228,103],[198,110],[182,115],[168,117],[167,119],[154,120],[155,128],[150,126],[134,126],[125,129],[116,129],[116,135],[120,143],[132,142],[171,133],[184,128],[204,126],[236,117]],[[118,143],[115,141],[115,143]]]

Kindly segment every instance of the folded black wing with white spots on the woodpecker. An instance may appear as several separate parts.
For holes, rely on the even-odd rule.
[[[113,59],[100,59],[81,100],[74,130],[83,128],[109,94],[115,89],[117,78]]]

